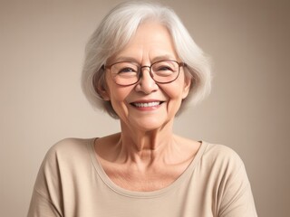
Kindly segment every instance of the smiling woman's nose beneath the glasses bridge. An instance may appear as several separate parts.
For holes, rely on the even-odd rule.
[[[136,90],[142,91],[146,94],[149,94],[150,92],[158,90],[159,86],[157,85],[155,80],[152,79],[150,67],[143,66],[143,67],[141,67],[140,70],[141,70],[140,80],[136,85]]]

